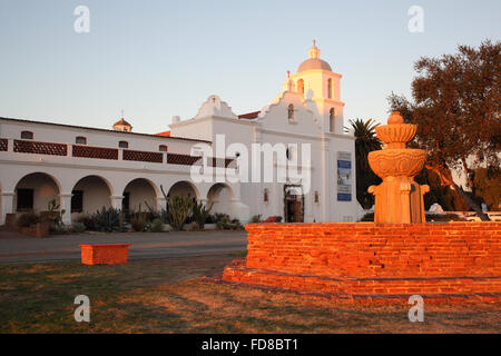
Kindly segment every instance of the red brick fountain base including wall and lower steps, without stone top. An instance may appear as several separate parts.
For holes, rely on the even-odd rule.
[[[501,224],[250,224],[223,279],[338,299],[501,301]],[[406,299],[405,299],[406,300]]]

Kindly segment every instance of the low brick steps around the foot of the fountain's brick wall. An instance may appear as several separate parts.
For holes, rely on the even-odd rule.
[[[419,294],[426,300],[433,301],[451,299],[501,301],[501,276],[340,279],[246,268],[245,259],[236,259],[226,266],[223,279],[253,286],[324,295],[346,301],[371,299],[374,301],[404,300],[406,303],[413,294]]]

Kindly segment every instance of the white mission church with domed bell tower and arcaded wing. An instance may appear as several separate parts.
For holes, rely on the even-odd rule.
[[[343,132],[341,75],[320,58],[313,44],[308,59],[287,76],[282,91],[259,111],[235,115],[210,96],[189,120],[173,118],[170,131],[132,131],[121,119],[112,129],[0,118],[0,225],[7,214],[47,210],[57,199],[63,222],[105,207],[137,210],[164,208],[168,196],[189,195],[214,204],[246,222],[252,216],[281,216],[283,221],[353,221],[362,209],[355,194],[354,137]],[[297,182],[195,182],[194,146],[310,144],[310,189]],[[219,157],[219,156],[218,156]],[[238,162],[238,155],[209,160],[215,166]],[[223,164],[224,162],[224,164]],[[276,160],[275,168],[278,165]],[[238,164],[237,164],[238,165]],[[160,188],[161,187],[161,188]]]

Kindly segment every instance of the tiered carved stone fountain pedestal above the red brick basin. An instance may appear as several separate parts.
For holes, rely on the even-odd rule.
[[[374,222],[425,222],[423,196],[430,187],[419,185],[414,177],[423,169],[426,152],[406,148],[415,131],[416,126],[404,123],[399,112],[390,116],[387,125],[376,127],[385,147],[369,154],[372,170],[383,179],[369,187],[375,196]]]

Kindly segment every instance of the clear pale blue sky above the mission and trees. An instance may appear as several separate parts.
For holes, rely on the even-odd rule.
[[[89,32],[75,31],[78,6]],[[422,32],[409,30],[412,6]],[[343,76],[345,125],[385,120],[420,57],[501,39],[501,1],[0,0],[0,117],[110,128],[124,110],[134,131],[155,134],[213,93],[256,111],[313,39]]]

